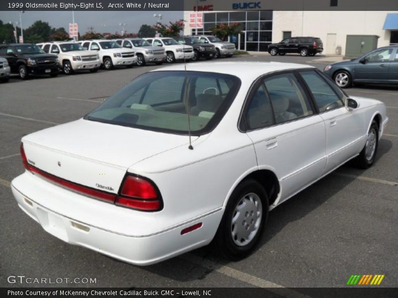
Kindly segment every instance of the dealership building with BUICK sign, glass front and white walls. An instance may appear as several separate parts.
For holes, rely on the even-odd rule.
[[[319,37],[323,41],[323,54],[329,55],[345,55],[346,48],[347,52],[359,55],[373,48],[398,44],[398,11],[372,11],[372,6],[366,7],[363,2],[358,7],[367,10],[312,10],[344,9],[338,6],[338,0],[317,3],[305,6],[307,10],[288,11],[278,10],[277,6],[268,9],[272,7],[266,0],[187,0],[184,35],[211,34],[216,24],[238,22],[241,33],[229,36],[228,40],[245,51],[265,52],[269,44],[291,36]]]

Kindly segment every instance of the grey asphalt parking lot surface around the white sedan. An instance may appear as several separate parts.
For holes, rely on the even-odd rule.
[[[316,59],[266,55],[228,61],[323,69],[326,64]],[[352,274],[384,274],[380,287],[398,287],[398,88],[347,89],[349,95],[377,98],[388,107],[390,122],[376,163],[367,170],[344,165],[273,210],[258,249],[242,261],[221,260],[208,246],[136,267],[66,244],[26,216],[9,187],[23,172],[20,139],[81,118],[135,76],[158,67],[26,81],[13,77],[0,84],[0,287],[54,286],[8,284],[9,275],[96,278],[95,284],[68,285],[84,287],[344,287]]]

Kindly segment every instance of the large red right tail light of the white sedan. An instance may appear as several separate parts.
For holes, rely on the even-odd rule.
[[[121,185],[116,205],[142,211],[159,211],[162,198],[155,184],[149,179],[127,175]]]

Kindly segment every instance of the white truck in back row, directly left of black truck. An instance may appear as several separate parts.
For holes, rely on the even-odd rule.
[[[176,60],[191,60],[194,58],[194,48],[187,45],[180,45],[171,37],[144,38],[154,47],[163,47],[166,50],[166,61],[174,63]]]

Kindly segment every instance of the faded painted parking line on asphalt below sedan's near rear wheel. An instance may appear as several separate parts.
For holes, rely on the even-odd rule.
[[[184,255],[180,256],[181,259],[184,259],[188,262],[194,263],[194,264],[198,264],[201,267],[207,268],[209,270],[213,270],[216,271],[218,273],[221,273],[223,275],[232,277],[233,279],[245,282],[247,284],[253,285],[255,287],[259,287],[259,288],[280,288],[278,289],[278,291],[276,290],[272,290],[272,289],[268,289],[268,291],[270,292],[274,292],[275,294],[278,295],[282,295],[285,297],[297,297],[297,298],[307,298],[308,296],[305,296],[301,293],[298,293],[296,291],[293,291],[291,289],[287,289],[284,286],[275,284],[273,282],[269,282],[266,281],[262,278],[259,278],[257,276],[233,269],[231,267],[228,266],[224,266],[222,264],[217,264],[213,261],[210,261],[208,259],[204,259],[201,257],[198,257],[192,253],[187,253]],[[283,288],[283,289],[281,289]]]

